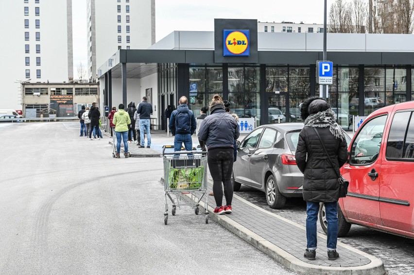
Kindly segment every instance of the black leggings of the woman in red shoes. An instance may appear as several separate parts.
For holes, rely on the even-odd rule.
[[[233,200],[233,184],[231,183],[233,161],[233,147],[211,148],[208,150],[207,162],[211,177],[213,178],[213,193],[217,207],[223,205],[222,182],[226,205],[231,205]]]

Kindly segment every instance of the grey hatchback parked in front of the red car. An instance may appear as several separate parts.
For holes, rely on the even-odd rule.
[[[302,123],[262,125],[248,134],[238,145],[233,165],[233,188],[241,185],[266,194],[271,208],[282,208],[286,199],[302,196],[303,174],[294,157]],[[345,135],[350,142],[348,135]]]

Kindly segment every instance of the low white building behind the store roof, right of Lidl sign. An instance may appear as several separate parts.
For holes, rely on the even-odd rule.
[[[294,22],[260,22],[258,21],[258,32],[324,32],[324,24],[299,24]]]

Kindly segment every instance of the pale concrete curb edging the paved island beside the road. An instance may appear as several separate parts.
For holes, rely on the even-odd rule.
[[[163,178],[161,178],[163,182]],[[191,200],[191,196],[184,194],[183,196],[186,200]],[[196,201],[196,199],[192,199]],[[197,201],[196,201],[197,202]],[[338,242],[338,245],[341,245],[353,252],[360,254],[363,257],[366,257],[371,260],[370,263],[362,266],[353,266],[353,267],[329,267],[329,266],[320,266],[313,265],[307,262],[297,259],[292,254],[286,252],[282,248],[278,247],[274,243],[271,243],[259,236],[255,232],[247,229],[241,224],[233,221],[225,215],[216,215],[213,213],[214,209],[211,206],[207,206],[209,212],[209,218],[223,226],[242,240],[251,244],[253,247],[259,249],[261,252],[265,253],[272,259],[275,259],[280,264],[284,265],[286,268],[307,275],[384,275],[385,268],[383,262],[365,252],[362,252],[356,248],[353,248],[350,245]],[[200,204],[200,209],[205,211],[204,204]],[[266,211],[266,210],[263,210]],[[267,212],[267,211],[266,211]]]

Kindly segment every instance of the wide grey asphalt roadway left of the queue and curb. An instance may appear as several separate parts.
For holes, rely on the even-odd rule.
[[[296,274],[189,207],[165,226],[162,159],[114,159],[105,139],[0,125],[1,275]]]

